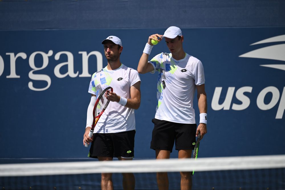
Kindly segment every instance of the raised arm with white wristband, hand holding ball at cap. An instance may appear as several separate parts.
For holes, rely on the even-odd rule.
[[[144,73],[148,73],[150,71],[153,71],[154,68],[152,66],[152,64],[148,63],[148,56],[150,54],[150,51],[153,47],[152,43],[151,43],[151,40],[154,40],[154,39],[157,39],[158,41],[162,40],[160,37],[162,35],[159,35],[159,34],[153,34],[151,36],[148,37],[148,41],[147,41],[147,44],[144,48],[144,51],[143,51],[143,54],[141,56],[141,59],[139,61],[139,65],[138,65],[138,68],[137,68],[137,71],[141,74],[144,74]]]

